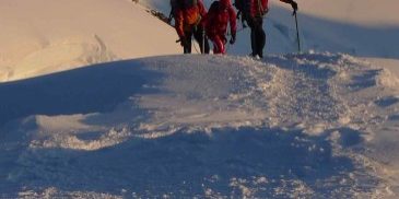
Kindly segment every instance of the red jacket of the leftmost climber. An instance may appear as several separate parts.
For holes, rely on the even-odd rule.
[[[198,0],[197,7],[190,9],[176,8],[175,10],[175,28],[179,37],[185,36],[185,30],[195,25],[203,25],[203,19],[207,10],[202,0]]]

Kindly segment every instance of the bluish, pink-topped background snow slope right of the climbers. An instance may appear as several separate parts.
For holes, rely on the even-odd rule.
[[[169,13],[168,1],[141,0],[143,4]],[[204,0],[208,8],[212,0]],[[361,57],[399,59],[399,15],[395,0],[297,0],[303,51],[345,52]],[[265,17],[268,54],[297,50],[296,28],[291,7],[270,1]],[[227,45],[228,54],[249,55],[249,28],[238,23],[237,43]]]

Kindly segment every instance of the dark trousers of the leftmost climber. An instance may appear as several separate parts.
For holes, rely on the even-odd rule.
[[[202,35],[203,28],[200,26],[192,27],[190,31],[185,32],[186,35],[186,43],[183,46],[184,54],[191,54],[191,37],[197,40],[200,46],[201,54],[209,54],[209,43],[208,37]],[[202,40],[204,39],[204,49],[202,49]]]

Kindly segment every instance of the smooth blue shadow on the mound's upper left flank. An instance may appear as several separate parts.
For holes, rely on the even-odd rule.
[[[0,127],[31,115],[69,115],[113,110],[162,78],[140,60],[115,61],[0,83]]]

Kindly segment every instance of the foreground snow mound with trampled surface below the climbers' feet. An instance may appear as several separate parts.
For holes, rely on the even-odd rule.
[[[2,83],[0,197],[394,197],[397,87],[328,52],[154,57]]]

